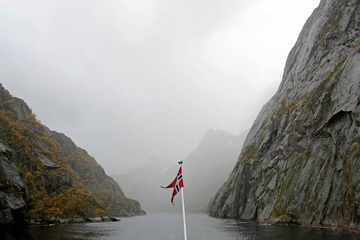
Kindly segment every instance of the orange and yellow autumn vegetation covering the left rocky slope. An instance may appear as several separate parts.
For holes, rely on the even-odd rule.
[[[18,99],[10,94],[4,98],[9,100],[0,101],[0,139],[15,150],[16,157],[10,160],[17,165],[28,190],[27,217],[55,220],[108,215],[101,202],[78,181],[74,170],[63,161],[57,141],[45,132],[35,114],[19,120],[16,112],[6,107]],[[59,167],[48,169],[43,166],[39,151]],[[64,176],[68,176],[70,181],[64,181]],[[55,190],[49,189],[49,183],[56,183]],[[5,190],[19,192],[18,189]]]

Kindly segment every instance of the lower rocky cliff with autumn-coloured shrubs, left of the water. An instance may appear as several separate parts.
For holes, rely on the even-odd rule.
[[[0,84],[0,225],[143,214],[93,157]]]

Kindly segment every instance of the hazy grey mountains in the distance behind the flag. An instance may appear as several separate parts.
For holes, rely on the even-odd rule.
[[[206,211],[213,193],[223,184],[230,174],[229,169],[235,165],[234,159],[239,156],[247,131],[234,136],[224,130],[208,129],[196,148],[183,159],[187,211]],[[173,180],[179,169],[177,161],[165,172],[158,167],[163,160],[152,158],[152,161],[147,162],[151,162],[151,165],[113,177],[120,183],[130,183],[130,178],[137,179],[137,182],[125,184],[123,187],[129,196],[139,199],[147,211],[181,210],[178,199],[175,198],[175,206],[171,204],[171,191],[159,187]],[[156,199],[152,196],[156,196]]]

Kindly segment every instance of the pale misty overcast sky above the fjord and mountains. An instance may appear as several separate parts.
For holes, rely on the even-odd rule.
[[[318,4],[0,0],[0,82],[108,174],[176,163],[251,127]]]

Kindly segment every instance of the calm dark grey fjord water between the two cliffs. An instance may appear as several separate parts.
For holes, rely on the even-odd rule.
[[[359,240],[360,235],[301,226],[271,226],[258,222],[188,214],[189,240]],[[183,240],[182,215],[150,213],[121,218],[121,222],[29,226],[1,231],[4,240]]]

